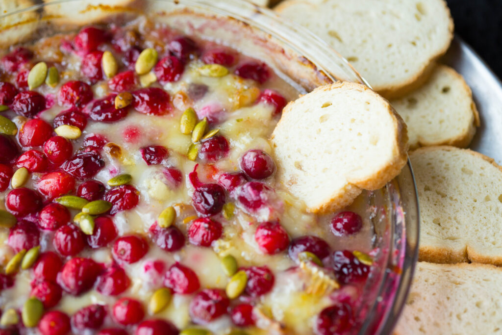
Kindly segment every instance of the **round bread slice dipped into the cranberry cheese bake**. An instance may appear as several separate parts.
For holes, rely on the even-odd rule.
[[[313,212],[383,187],[407,160],[406,125],[368,87],[337,82],[290,102],[272,134],[278,178]]]

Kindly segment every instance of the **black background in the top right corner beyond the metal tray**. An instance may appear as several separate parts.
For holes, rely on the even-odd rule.
[[[502,78],[502,0],[446,0],[455,33]]]

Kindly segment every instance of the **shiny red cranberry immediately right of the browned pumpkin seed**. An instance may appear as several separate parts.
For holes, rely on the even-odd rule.
[[[143,114],[167,114],[171,111],[169,93],[158,87],[139,89],[133,92],[133,107]]]

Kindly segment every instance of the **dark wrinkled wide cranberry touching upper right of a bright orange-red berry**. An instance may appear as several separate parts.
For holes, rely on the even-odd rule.
[[[104,161],[96,150],[81,151],[61,165],[61,168],[77,178],[92,178],[104,167]]]

